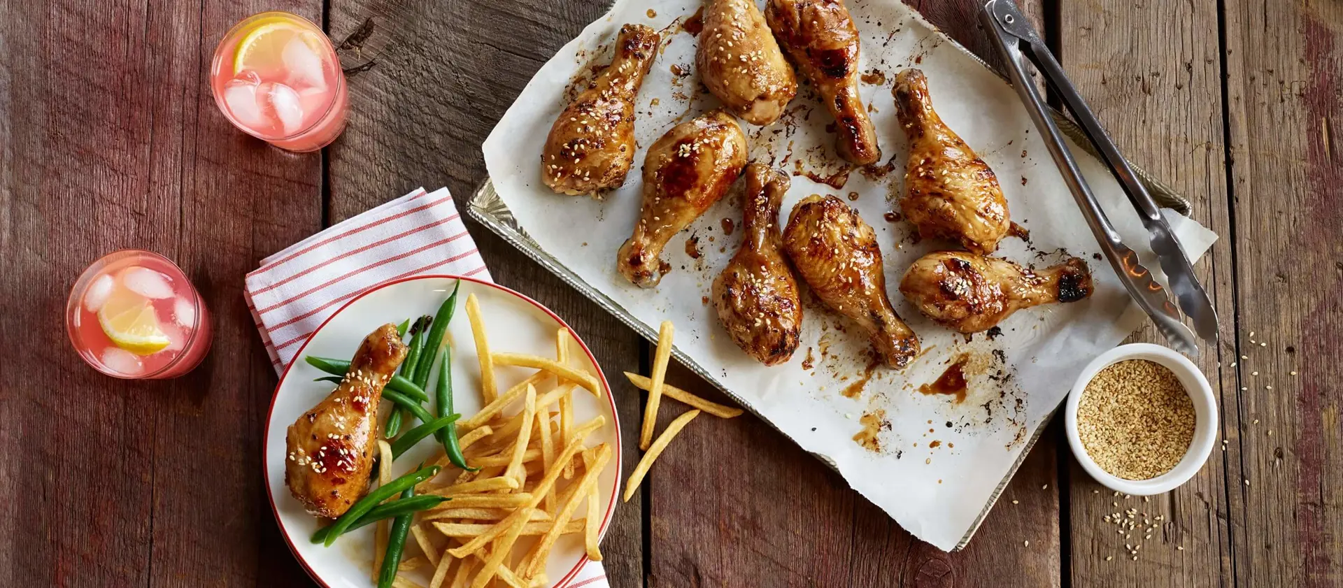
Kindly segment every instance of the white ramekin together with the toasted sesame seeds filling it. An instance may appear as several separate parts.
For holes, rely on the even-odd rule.
[[[1120,345],[1077,377],[1065,428],[1073,455],[1097,482],[1125,494],[1160,494],[1203,467],[1217,436],[1217,401],[1185,356],[1160,345]]]

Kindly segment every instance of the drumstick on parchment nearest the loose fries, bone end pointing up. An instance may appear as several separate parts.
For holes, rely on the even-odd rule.
[[[788,175],[764,164],[747,166],[745,238],[741,248],[713,281],[719,321],[748,356],[764,365],[788,361],[798,349],[802,302],[798,282],[783,259],[783,238],[775,224]]]

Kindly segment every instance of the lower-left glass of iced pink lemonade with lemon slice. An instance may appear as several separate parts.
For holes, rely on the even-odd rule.
[[[214,338],[187,275],[141,250],[111,252],[85,270],[66,302],[66,332],[89,365],[130,380],[181,376]]]

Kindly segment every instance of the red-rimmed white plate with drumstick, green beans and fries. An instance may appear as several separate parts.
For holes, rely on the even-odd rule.
[[[267,423],[275,517],[326,587],[564,585],[602,557],[610,387],[513,290],[427,275],[359,295],[298,352]]]

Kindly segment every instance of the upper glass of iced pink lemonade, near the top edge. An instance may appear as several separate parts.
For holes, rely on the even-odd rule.
[[[349,111],[330,39],[289,12],[252,15],[228,30],[215,48],[210,86],[228,121],[291,152],[334,141]]]

